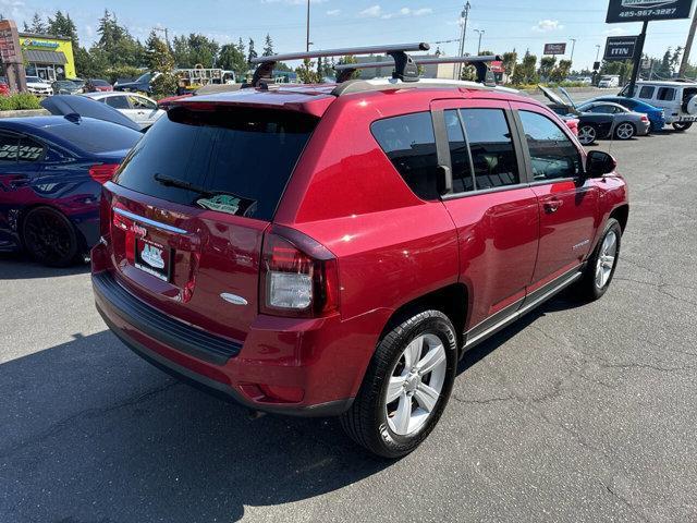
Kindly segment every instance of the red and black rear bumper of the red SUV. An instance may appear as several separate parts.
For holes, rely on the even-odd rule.
[[[93,264],[96,258],[93,252]],[[109,271],[93,275],[93,287],[106,324],[148,362],[249,409],[297,416],[333,416],[351,406],[389,316],[376,311],[342,321],[259,315],[246,338],[234,342],[158,314]]]

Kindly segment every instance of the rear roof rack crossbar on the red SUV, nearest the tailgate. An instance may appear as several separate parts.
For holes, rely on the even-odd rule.
[[[310,58],[343,57],[354,54],[382,54],[386,53],[394,60],[394,72],[392,77],[403,82],[416,82],[418,80],[418,68],[412,57],[411,51],[428,51],[430,46],[424,41],[416,44],[395,44],[391,46],[368,46],[348,47],[343,49],[326,49],[308,52],[289,52],[285,54],[271,54],[269,57],[257,57],[249,60],[249,63],[257,64],[252,77],[252,84],[245,87],[259,87],[261,82],[272,82],[272,72],[277,62],[284,60],[305,60]]]

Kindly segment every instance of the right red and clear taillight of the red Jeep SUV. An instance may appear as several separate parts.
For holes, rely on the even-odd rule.
[[[339,271],[334,255],[298,231],[271,228],[264,236],[259,311],[304,318],[338,312]]]

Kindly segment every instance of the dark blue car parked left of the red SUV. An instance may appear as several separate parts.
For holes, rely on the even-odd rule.
[[[140,136],[77,114],[0,120],[0,251],[53,267],[84,259],[99,240],[101,185]]]

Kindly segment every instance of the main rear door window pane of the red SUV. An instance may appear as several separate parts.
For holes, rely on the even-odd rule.
[[[500,109],[461,111],[472,150],[477,190],[519,183],[511,130]]]

